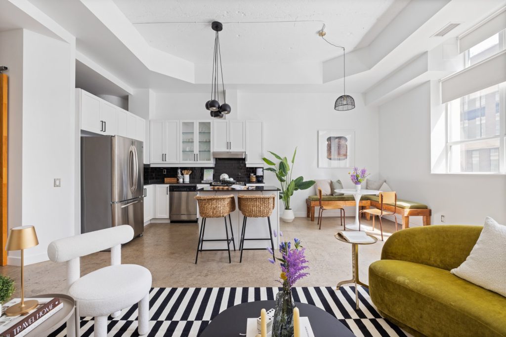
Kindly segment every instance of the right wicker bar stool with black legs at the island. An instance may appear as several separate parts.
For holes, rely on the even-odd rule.
[[[274,205],[276,202],[276,196],[237,196],[237,202],[239,203],[239,211],[244,215],[242,219],[242,230],[241,230],[241,240],[239,244],[239,249],[241,250],[241,259],[239,262],[242,262],[242,251],[251,251],[251,250],[265,250],[265,248],[244,248],[244,240],[271,240],[272,251],[274,251],[274,242],[272,240],[272,228],[271,228],[271,214],[274,210]],[[244,233],[246,231],[246,223],[247,218],[267,218],[267,223],[269,224],[269,236],[268,238],[245,238]],[[272,256],[274,259],[274,255]]]

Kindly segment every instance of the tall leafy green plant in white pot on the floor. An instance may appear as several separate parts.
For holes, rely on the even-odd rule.
[[[313,186],[315,184],[314,180],[307,180],[304,181],[304,178],[302,176],[292,179],[291,175],[293,173],[293,164],[295,162],[295,155],[297,154],[297,148],[295,148],[295,151],[293,152],[293,156],[291,158],[291,168],[288,163],[288,159],[286,157],[281,158],[280,156],[276,155],[274,152],[268,151],[271,155],[274,156],[277,160],[279,160],[279,164],[276,166],[276,164],[267,159],[262,158],[264,162],[269,166],[274,167],[268,167],[266,168],[267,171],[274,172],[276,174],[276,178],[279,180],[279,183],[281,184],[281,192],[279,194],[279,199],[283,201],[284,204],[284,212],[281,216],[281,220],[284,222],[292,222],[294,219],[293,210],[290,206],[290,198],[293,196],[293,192],[298,189],[308,189],[309,187]]]

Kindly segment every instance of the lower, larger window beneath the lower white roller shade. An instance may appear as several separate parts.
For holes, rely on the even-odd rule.
[[[506,173],[506,82],[446,103],[450,173]]]

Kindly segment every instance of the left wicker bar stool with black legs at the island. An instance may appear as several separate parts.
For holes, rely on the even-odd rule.
[[[195,196],[195,199],[198,203],[198,211],[200,213],[200,217],[202,218],[202,223],[200,224],[200,234],[198,236],[198,244],[197,244],[197,255],[195,256],[195,264],[197,264],[198,252],[206,252],[206,251],[228,251],[228,263],[232,262],[230,258],[230,242],[234,245],[235,252],[235,242],[234,242],[234,231],[232,229],[232,220],[230,218],[230,213],[235,211],[235,199],[233,195],[230,196]],[[228,237],[228,227],[227,227],[227,215],[230,224],[230,233],[232,237]],[[224,218],[225,219],[225,232],[227,233],[227,238],[223,239],[204,239],[205,233],[205,221],[207,218]],[[202,249],[204,241],[226,241],[228,249]]]

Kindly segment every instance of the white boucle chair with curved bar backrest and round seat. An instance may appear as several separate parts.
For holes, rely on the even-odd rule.
[[[134,237],[129,225],[101,229],[53,241],[48,255],[53,262],[67,262],[68,294],[77,302],[80,316],[95,317],[96,337],[107,336],[107,317],[139,303],[138,333],[149,330],[151,273],[135,264],[121,264],[121,244]],[[81,256],[111,249],[111,265],[80,277]],[[67,335],[75,331],[75,320],[67,321]]]

